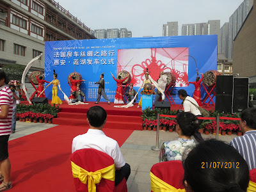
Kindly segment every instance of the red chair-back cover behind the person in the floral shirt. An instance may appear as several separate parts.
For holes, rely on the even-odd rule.
[[[181,161],[166,161],[154,164],[150,170],[157,178],[173,188],[184,189],[184,169]],[[150,178],[152,180],[152,177]]]

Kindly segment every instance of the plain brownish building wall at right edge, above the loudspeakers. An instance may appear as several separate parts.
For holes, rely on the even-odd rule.
[[[248,17],[234,38],[233,75],[239,77],[256,76],[256,0]]]

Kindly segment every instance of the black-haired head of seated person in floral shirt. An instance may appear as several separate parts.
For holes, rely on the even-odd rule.
[[[181,135],[192,136],[199,127],[198,118],[189,112],[179,113],[176,121],[176,130]]]

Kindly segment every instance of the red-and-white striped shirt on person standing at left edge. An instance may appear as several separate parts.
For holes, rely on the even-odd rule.
[[[9,106],[9,113],[7,118],[0,118],[0,136],[12,133],[13,93],[8,86],[0,90],[0,106],[2,105]]]

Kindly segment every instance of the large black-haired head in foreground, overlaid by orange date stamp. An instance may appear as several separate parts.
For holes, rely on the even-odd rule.
[[[184,186],[189,192],[246,191],[250,180],[243,157],[218,140],[199,143],[184,157],[183,167]]]

